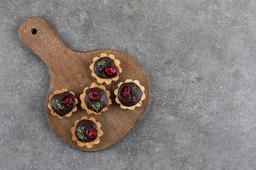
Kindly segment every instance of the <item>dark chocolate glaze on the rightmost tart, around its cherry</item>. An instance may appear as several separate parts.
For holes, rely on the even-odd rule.
[[[121,95],[121,91],[123,90],[124,87],[127,87],[130,91],[130,96],[125,99],[124,97],[122,97]],[[137,84],[130,82],[130,83],[123,83],[120,88],[118,89],[118,99],[121,102],[122,105],[124,106],[134,106],[135,104],[137,104],[140,99],[141,99],[141,95],[142,92],[139,88],[139,86],[137,86]]]

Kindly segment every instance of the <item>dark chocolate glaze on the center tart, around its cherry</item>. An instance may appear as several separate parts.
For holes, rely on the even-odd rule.
[[[88,98],[88,94],[92,90],[97,91],[99,93],[99,97],[97,100],[91,101]],[[93,110],[94,112],[99,113],[102,110],[102,108],[104,108],[108,104],[107,95],[105,91],[103,91],[101,88],[97,88],[97,87],[89,88],[86,91],[85,103],[87,108],[89,108],[90,110]]]

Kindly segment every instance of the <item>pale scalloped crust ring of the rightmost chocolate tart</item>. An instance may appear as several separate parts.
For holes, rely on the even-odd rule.
[[[121,86],[123,83],[130,83],[130,82],[133,82],[133,83],[137,84],[137,86],[139,86],[139,88],[140,88],[142,94],[141,94],[141,99],[140,99],[140,101],[139,101],[137,104],[128,107],[128,106],[122,105],[121,102],[120,102],[120,100],[118,99],[118,89],[120,88],[120,86]],[[120,107],[123,108],[123,109],[134,110],[135,107],[140,107],[140,106],[142,105],[142,100],[144,100],[144,99],[146,98],[146,95],[145,95],[145,93],[144,93],[144,90],[145,90],[144,86],[141,86],[141,85],[139,84],[139,81],[138,81],[138,80],[132,81],[132,79],[126,79],[125,82],[120,82],[120,83],[118,84],[118,88],[115,89],[114,94],[117,96],[117,97],[115,98],[115,101],[116,101],[118,104],[120,104]]]

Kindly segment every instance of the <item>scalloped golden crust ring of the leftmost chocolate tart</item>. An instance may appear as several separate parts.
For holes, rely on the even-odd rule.
[[[54,95],[61,94],[61,93],[64,93],[64,92],[66,92],[66,91],[67,91],[66,88],[63,88],[63,89],[61,89],[61,90],[55,90],[54,93],[53,93],[53,95],[50,95],[50,97],[49,97],[49,101],[50,101],[50,102],[49,102],[48,105],[47,105],[47,107],[51,110],[52,115],[54,115],[54,116],[57,115],[60,119],[62,119],[64,116],[65,116],[65,117],[70,117],[70,116],[72,115],[72,113],[77,110],[76,104],[78,104],[78,100],[77,100],[76,98],[75,98],[76,104],[75,104],[74,108],[73,108],[69,113],[67,113],[66,115],[60,116],[60,115],[58,115],[58,114],[53,110],[52,105],[51,105],[52,97],[53,97]],[[74,92],[70,91],[70,93],[75,96]]]

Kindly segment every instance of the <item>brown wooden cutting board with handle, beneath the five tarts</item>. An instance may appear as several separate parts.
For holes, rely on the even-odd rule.
[[[32,34],[31,29],[36,29],[37,33]],[[72,113],[71,117],[63,117],[63,119],[53,116],[46,107],[47,119],[52,130],[66,144],[83,151],[98,151],[108,148],[124,137],[145,114],[150,98],[148,80],[141,67],[128,55],[108,49],[89,52],[72,51],[63,44],[51,26],[43,18],[38,17],[29,18],[21,24],[19,38],[49,68],[51,84],[46,105],[49,103],[49,95],[53,94],[56,89],[61,90],[62,88],[73,91],[79,101],[76,105],[77,111]],[[108,106],[108,110],[101,115],[89,115],[86,110],[81,108],[79,96],[85,87],[90,87],[92,82],[97,83],[96,78],[91,75],[92,71],[89,66],[92,64],[93,57],[99,57],[101,53],[115,55],[115,58],[121,62],[120,67],[123,72],[116,82],[112,81],[110,85],[103,83],[111,93],[112,104]],[[137,79],[145,87],[146,99],[142,101],[142,106],[136,107],[135,110],[121,109],[120,105],[115,102],[114,91],[117,84],[125,82],[126,79]],[[99,83],[97,84],[99,85]],[[97,122],[101,123],[101,130],[104,133],[100,137],[100,143],[90,149],[79,147],[76,141],[72,140],[70,132],[74,121],[83,116],[94,117]]]

